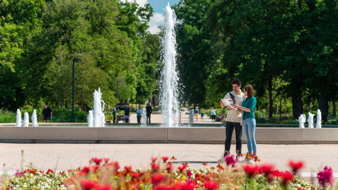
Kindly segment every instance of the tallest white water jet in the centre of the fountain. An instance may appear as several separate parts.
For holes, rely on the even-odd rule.
[[[169,3],[164,9],[164,35],[162,41],[162,72],[160,81],[160,104],[163,115],[163,126],[177,126],[174,119],[179,116],[178,97],[178,72],[176,68],[176,15]]]

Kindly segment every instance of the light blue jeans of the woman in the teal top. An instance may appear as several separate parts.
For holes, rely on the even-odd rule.
[[[256,119],[253,117],[243,120],[243,131],[246,138],[247,150],[250,155],[257,153],[257,144],[255,140]]]

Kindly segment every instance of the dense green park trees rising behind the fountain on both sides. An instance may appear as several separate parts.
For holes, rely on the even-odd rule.
[[[183,105],[219,108],[239,78],[255,88],[262,122],[296,122],[317,109],[323,123],[336,122],[337,1],[191,0],[172,8]],[[75,62],[75,104],[84,112],[75,115],[78,121],[92,109],[98,87],[106,105],[158,105],[162,32],[147,30],[149,4],[5,0],[0,15],[1,122],[18,108],[42,104],[68,121],[74,58],[81,59]]]

